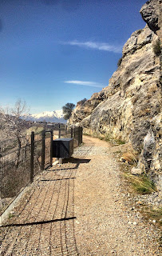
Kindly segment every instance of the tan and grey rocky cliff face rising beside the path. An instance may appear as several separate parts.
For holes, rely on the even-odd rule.
[[[109,86],[84,103],[78,102],[69,123],[86,133],[131,142],[140,155],[138,166],[155,176],[160,186],[161,82],[160,6],[151,0],[140,13],[147,22],[124,44],[121,65]],[[156,175],[157,174],[157,175]]]

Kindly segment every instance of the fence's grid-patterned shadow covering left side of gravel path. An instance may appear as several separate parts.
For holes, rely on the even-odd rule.
[[[54,171],[41,175],[34,191],[15,208],[16,215],[0,227],[0,255],[79,255],[74,230],[74,182],[79,159],[76,162],[70,163],[73,168],[53,167]]]

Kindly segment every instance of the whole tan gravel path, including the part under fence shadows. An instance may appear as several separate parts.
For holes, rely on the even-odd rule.
[[[160,255],[158,230],[126,203],[109,143],[83,142],[22,197],[0,228],[0,255]]]

